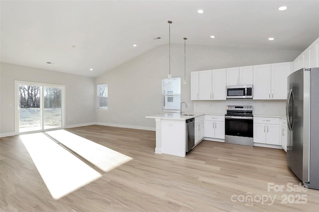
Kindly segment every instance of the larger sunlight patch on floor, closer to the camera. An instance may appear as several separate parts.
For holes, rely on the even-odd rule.
[[[43,133],[20,135],[20,138],[56,200],[102,177]]]

